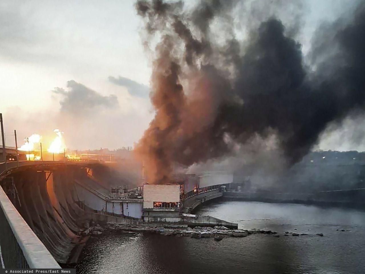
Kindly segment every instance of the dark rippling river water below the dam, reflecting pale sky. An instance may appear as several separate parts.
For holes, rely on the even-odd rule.
[[[239,228],[270,229],[280,237],[254,234],[216,242],[113,232],[88,242],[77,273],[365,273],[365,212],[224,201],[204,205],[197,214],[235,222]],[[308,235],[284,236],[285,231]]]

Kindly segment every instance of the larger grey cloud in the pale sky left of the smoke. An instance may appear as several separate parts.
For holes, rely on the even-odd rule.
[[[116,108],[118,107],[118,99],[114,94],[103,96],[95,90],[70,80],[67,82],[69,91],[63,88],[55,88],[53,93],[62,96],[61,112],[81,114],[87,113],[95,108]]]

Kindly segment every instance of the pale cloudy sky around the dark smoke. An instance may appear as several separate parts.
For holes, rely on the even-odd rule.
[[[188,1],[188,5],[196,1]],[[316,27],[351,9],[351,0],[308,0],[299,40],[310,51]],[[151,62],[135,1],[0,1],[0,112],[8,146],[59,128],[72,149],[133,146],[153,118]],[[318,148],[359,149],[341,134]],[[346,124],[345,124],[346,126]],[[334,138],[333,136],[337,136]],[[342,136],[342,137],[338,137]],[[341,146],[339,143],[341,142]]]

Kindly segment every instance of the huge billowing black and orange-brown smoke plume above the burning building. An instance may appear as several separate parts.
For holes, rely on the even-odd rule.
[[[294,39],[299,21],[257,18],[238,39],[229,24],[238,4],[201,1],[192,11],[182,1],[136,4],[146,44],[161,38],[151,77],[155,118],[137,146],[150,182],[168,182],[176,162],[219,158],[257,135],[275,135],[288,162],[297,162],[329,123],[364,108],[364,4],[315,40],[311,66]]]

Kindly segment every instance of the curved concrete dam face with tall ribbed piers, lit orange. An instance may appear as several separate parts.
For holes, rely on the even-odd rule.
[[[95,179],[88,175],[91,170]],[[80,232],[85,211],[93,212],[85,205],[88,190],[80,185],[108,188],[101,185],[105,180],[97,181],[97,176],[101,177],[98,170],[99,164],[21,166],[3,179],[4,192],[59,263],[77,261],[75,247],[82,246],[84,240]]]

